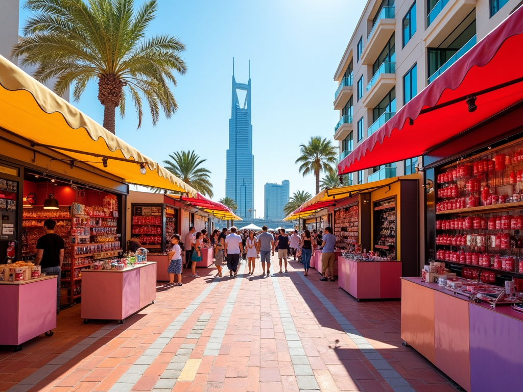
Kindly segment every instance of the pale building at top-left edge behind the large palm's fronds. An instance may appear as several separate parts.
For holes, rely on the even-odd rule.
[[[19,39],[19,16],[20,0],[0,0],[0,55],[18,65],[24,72],[32,75],[36,67],[22,66],[19,59],[11,57],[11,51]],[[44,85],[52,89],[54,80],[49,80]],[[69,90],[62,98],[69,102]]]

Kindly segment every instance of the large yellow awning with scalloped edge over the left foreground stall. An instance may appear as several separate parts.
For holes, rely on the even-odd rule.
[[[117,176],[124,182],[191,195],[197,193],[184,181],[107,131],[2,56],[0,127],[75,160],[88,161],[90,165]],[[158,137],[158,143],[160,142]],[[109,158],[107,168],[103,166],[103,157]],[[111,158],[130,159],[133,162]],[[90,163],[93,160],[99,160],[99,163]],[[145,175],[140,173],[139,163],[142,162],[146,166]]]

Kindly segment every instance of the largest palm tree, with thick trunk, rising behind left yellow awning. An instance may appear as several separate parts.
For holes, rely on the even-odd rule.
[[[160,108],[167,118],[178,109],[169,84],[174,72],[187,68],[179,56],[185,45],[162,34],[145,38],[156,13],[156,0],[146,1],[135,13],[134,0],[27,0],[35,12],[24,27],[24,37],[12,51],[21,63],[36,65],[33,76],[44,83],[56,77],[54,92],[74,85],[78,101],[87,84],[98,80],[98,100],[104,105],[104,127],[115,133],[115,111],[120,116],[130,97],[142,124],[142,99],[147,101],[153,125]]]

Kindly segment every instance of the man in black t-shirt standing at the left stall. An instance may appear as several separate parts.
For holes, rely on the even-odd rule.
[[[55,225],[56,222],[52,219],[43,223],[46,235],[38,238],[35,264],[41,266],[42,272],[48,275],[58,275],[56,278],[56,314],[58,314],[60,312],[60,275],[64,261],[64,240],[58,234],[54,234]]]

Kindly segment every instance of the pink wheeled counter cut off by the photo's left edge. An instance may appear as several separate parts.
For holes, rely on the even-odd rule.
[[[0,282],[0,344],[15,345],[56,328],[56,275]]]

